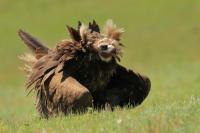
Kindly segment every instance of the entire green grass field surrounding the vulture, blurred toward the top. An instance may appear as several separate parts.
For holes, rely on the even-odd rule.
[[[199,133],[199,0],[0,0],[0,133]],[[108,18],[125,29],[121,64],[146,74],[150,95],[134,109],[39,119],[17,55],[22,28],[50,46],[75,26]]]

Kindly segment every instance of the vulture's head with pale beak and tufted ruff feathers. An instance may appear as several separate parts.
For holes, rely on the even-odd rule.
[[[120,43],[122,29],[117,29],[112,20],[108,20],[104,32],[95,21],[86,26],[79,22],[78,30],[68,26],[73,41],[81,43],[86,51],[103,62],[120,60],[122,56],[122,44]]]

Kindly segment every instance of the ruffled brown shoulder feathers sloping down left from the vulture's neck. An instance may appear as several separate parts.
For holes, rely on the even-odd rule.
[[[34,83],[35,89],[40,88],[42,83],[48,80],[55,71],[62,71],[64,63],[74,58],[74,49],[76,49],[74,47],[75,45],[70,41],[62,42],[54,50],[40,58],[32,68],[32,73],[26,84],[27,88],[30,88]]]

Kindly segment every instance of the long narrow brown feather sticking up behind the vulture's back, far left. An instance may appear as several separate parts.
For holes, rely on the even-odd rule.
[[[36,38],[28,34],[23,30],[19,30],[18,34],[20,38],[24,41],[24,43],[29,47],[29,49],[34,53],[37,54],[38,49],[42,51],[42,53],[48,53],[49,48],[38,41]]]

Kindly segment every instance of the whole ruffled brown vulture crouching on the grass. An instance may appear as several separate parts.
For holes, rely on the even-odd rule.
[[[140,105],[150,91],[148,77],[120,65],[123,29],[108,20],[104,31],[89,25],[67,26],[70,39],[49,48],[29,33],[18,34],[31,54],[23,54],[26,88],[35,92],[42,118],[82,113],[88,108],[111,109]]]

